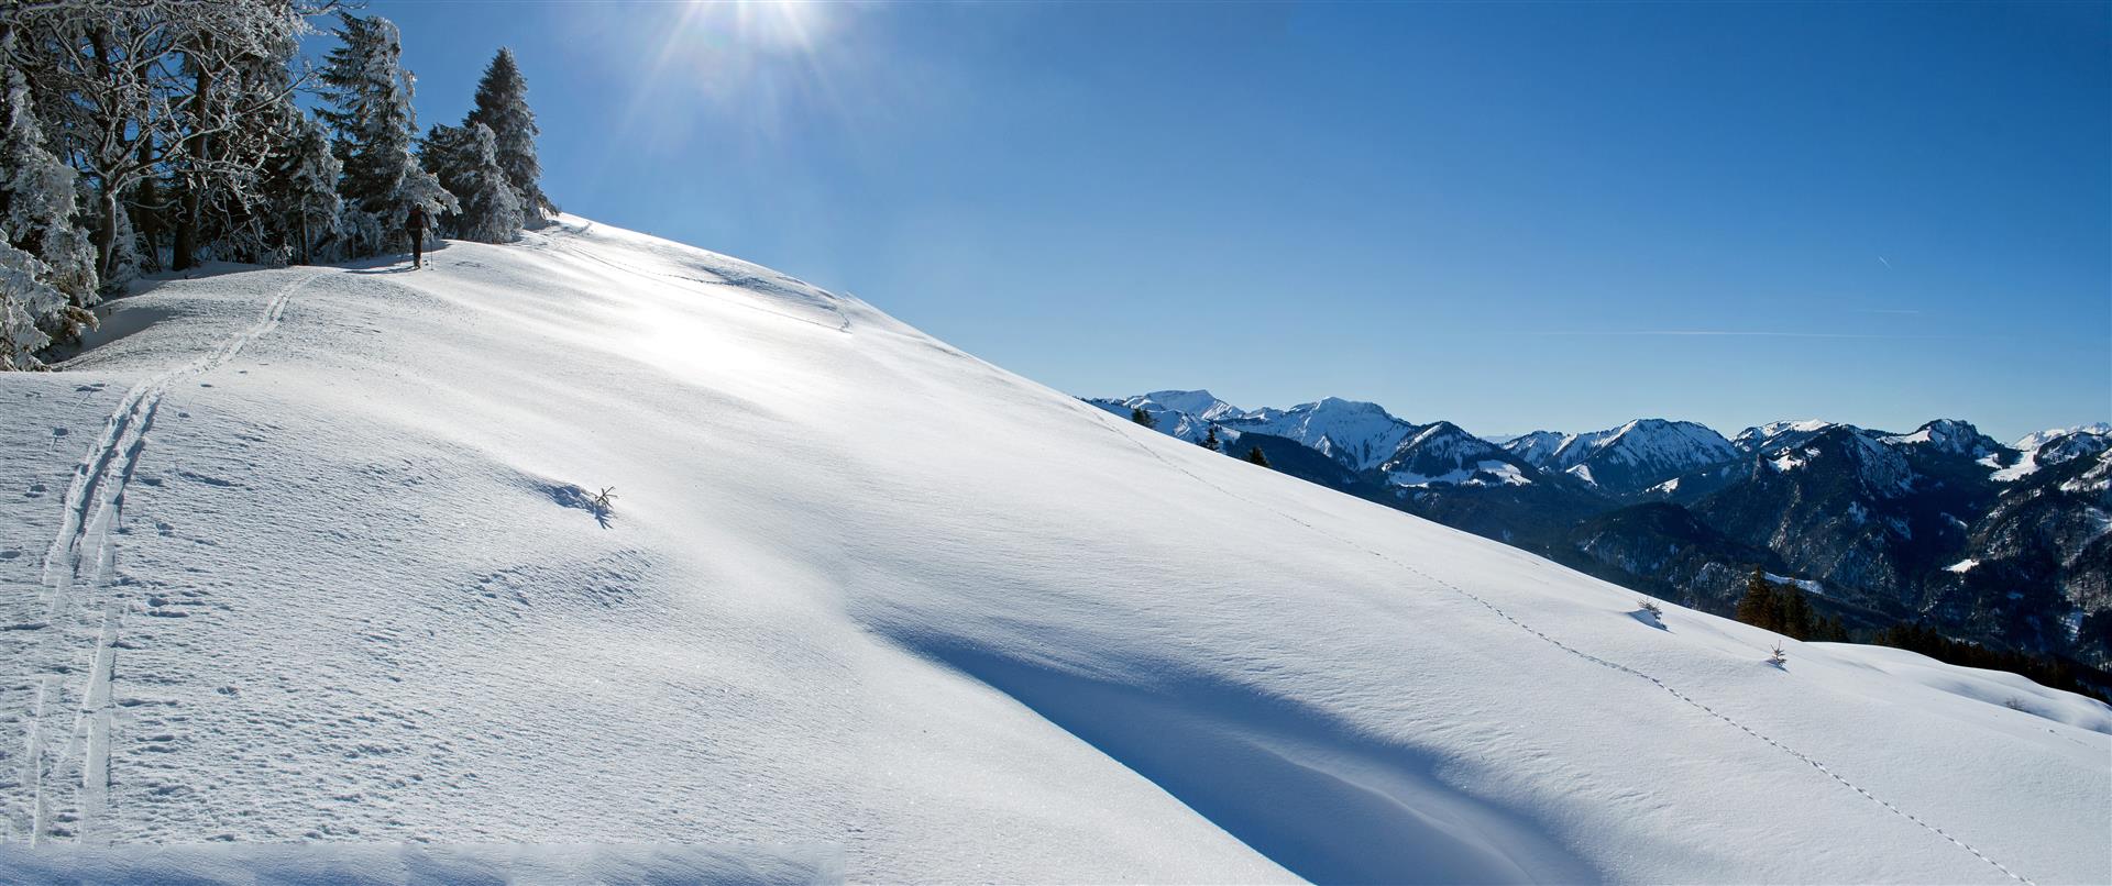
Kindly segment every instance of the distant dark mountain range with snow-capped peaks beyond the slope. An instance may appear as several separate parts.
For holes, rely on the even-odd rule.
[[[1240,409],[1208,390],[1088,399],[1282,473],[1546,555],[1683,605],[1730,612],[1755,565],[1861,629],[2112,667],[2112,424],[1998,443],[1770,422],[1734,437],[1639,418],[1483,439],[1375,403]]]

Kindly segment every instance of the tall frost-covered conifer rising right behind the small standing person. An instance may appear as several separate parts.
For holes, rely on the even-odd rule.
[[[403,217],[412,207],[437,215],[456,209],[456,200],[412,158],[418,118],[410,105],[414,80],[399,63],[397,25],[351,13],[338,13],[338,23],[342,44],[329,51],[321,72],[332,108],[321,116],[338,137],[336,154],[344,165],[338,194],[346,203],[348,253],[376,255],[406,243]]]

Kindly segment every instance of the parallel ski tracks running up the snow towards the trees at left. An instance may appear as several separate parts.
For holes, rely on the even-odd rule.
[[[146,451],[148,430],[154,426],[163,397],[175,382],[226,365],[249,342],[277,327],[294,293],[321,274],[321,270],[313,270],[281,287],[253,325],[230,335],[211,354],[152,375],[127,390],[103,422],[103,432],[74,468],[59,534],[44,553],[44,620],[36,627],[44,635],[34,656],[40,673],[36,675],[19,776],[25,797],[8,804],[8,831],[25,829],[30,846],[53,835],[68,835],[57,829],[63,823],[72,825],[68,831],[76,842],[95,842],[93,825],[108,806],[110,726],[114,717],[110,675],[116,667],[125,605],[99,603],[97,593],[116,565],[116,544],[110,534],[125,515],[125,489],[139,468],[139,454]],[[84,567],[87,574],[82,574]],[[72,624],[87,624],[91,618],[97,622],[97,631],[95,648],[80,677],[84,686],[68,692],[68,679],[80,669],[74,662],[76,652],[68,650],[65,635]],[[76,694],[80,705],[70,719],[57,717],[53,709],[70,694]],[[61,726],[65,732],[55,732]],[[80,785],[72,802],[65,804],[65,787],[59,785],[59,778],[70,766],[80,768]]]

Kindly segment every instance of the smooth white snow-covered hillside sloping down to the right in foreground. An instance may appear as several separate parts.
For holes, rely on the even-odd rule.
[[[2104,705],[1658,627],[722,255],[566,217],[429,262],[163,283],[118,304],[158,323],[0,375],[0,878],[306,840],[853,880],[2112,880]]]

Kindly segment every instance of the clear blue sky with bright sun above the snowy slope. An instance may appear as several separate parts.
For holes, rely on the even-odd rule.
[[[2112,418],[2106,4],[372,2],[572,213],[1077,394]]]

